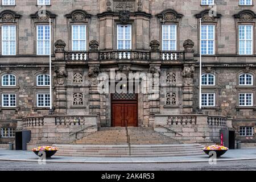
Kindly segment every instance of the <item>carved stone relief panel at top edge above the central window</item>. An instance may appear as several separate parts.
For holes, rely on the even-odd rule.
[[[121,10],[135,11],[135,0],[113,0],[114,12],[119,12]]]

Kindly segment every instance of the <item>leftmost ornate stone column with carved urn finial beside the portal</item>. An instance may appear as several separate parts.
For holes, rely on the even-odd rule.
[[[67,88],[66,78],[67,71],[65,68],[65,42],[63,40],[57,40],[55,42],[55,61],[54,72],[54,88],[55,88],[55,113],[56,114],[67,114]]]

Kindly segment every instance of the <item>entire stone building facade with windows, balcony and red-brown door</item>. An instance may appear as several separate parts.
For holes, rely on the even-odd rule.
[[[204,5],[204,2],[210,1],[51,0],[49,4],[42,6],[36,0],[23,0],[15,1],[14,5],[2,5],[2,32],[5,32],[4,26],[14,26],[16,31],[14,53],[8,51],[10,47],[4,47],[4,36],[1,36],[0,142],[14,140],[11,133],[16,127],[16,130],[22,130],[22,127],[31,130],[29,127],[35,125],[37,129],[41,120],[31,120],[30,117],[47,115],[49,112],[49,86],[38,84],[40,75],[43,75],[43,82],[49,81],[46,78],[49,74],[47,46],[44,42],[43,48],[39,49],[38,29],[43,27],[44,34],[49,18],[52,32],[49,42],[52,54],[52,105],[53,115],[56,115],[55,125],[66,121],[73,125],[79,121],[80,125],[80,119],[85,121],[88,118],[89,123],[96,123],[97,127],[154,126],[156,130],[162,131],[156,127],[161,125],[173,130],[175,135],[183,133],[183,140],[201,142],[206,138],[209,141],[204,142],[210,142],[218,140],[218,131],[227,127],[224,121],[228,118],[231,122],[229,128],[236,130],[237,139],[255,142],[254,2],[251,5],[240,5],[238,0],[216,0],[214,6]],[[210,15],[212,12],[213,15]],[[202,56],[203,74],[207,79],[207,84],[203,85],[203,94],[206,97],[206,105],[202,108],[203,115],[197,115],[200,18],[202,25],[207,28],[212,26],[214,32],[210,39],[214,42],[213,50],[210,50],[213,52]],[[73,26],[85,27],[85,30],[79,29],[85,34],[79,40],[83,41],[80,42],[80,46],[84,46],[82,50],[74,48],[76,45]],[[121,26],[120,29],[118,26]],[[164,44],[164,31],[167,31],[164,30],[165,26],[169,28],[168,31],[174,30],[172,34],[175,34],[174,38],[168,38],[169,47]],[[251,38],[244,40],[252,45],[246,49],[247,55],[240,52],[240,26],[251,28],[252,32]],[[126,27],[130,27],[130,30]],[[129,37],[127,34],[130,34],[130,38],[122,40],[129,43],[118,42],[121,41],[118,37],[122,28],[125,30],[123,36]],[[208,29],[207,31],[209,32]],[[46,38],[47,35],[44,35],[42,41]],[[129,73],[156,75],[159,77],[159,86],[156,88],[158,94],[99,93],[99,75],[108,75],[109,84],[116,84],[117,81],[111,79],[113,69],[115,74],[122,73],[126,76]],[[242,74],[247,74],[244,75],[245,78],[241,77],[245,80],[240,79]],[[14,85],[4,85],[3,77],[6,75],[9,82],[10,75],[16,78]],[[208,84],[212,78],[213,84]],[[241,81],[246,82],[246,79],[249,79],[249,84],[240,84]],[[143,88],[142,81],[137,81]],[[15,97],[15,105],[11,105],[11,97]],[[7,106],[4,106],[4,100],[7,100]],[[85,120],[82,120],[84,117]],[[205,123],[197,127],[195,118],[200,123],[202,117]],[[44,125],[51,120],[46,118]],[[209,130],[204,129],[208,125]],[[214,125],[216,130],[210,130]],[[60,128],[56,130],[61,132]],[[85,128],[74,127],[68,131],[72,134]],[[201,133],[193,134],[197,131]],[[39,129],[36,130],[38,135],[34,135],[34,138],[39,137],[40,132]],[[55,131],[47,130],[46,133]],[[54,136],[56,135],[53,134],[52,137]],[[210,140],[211,137],[215,138]]]

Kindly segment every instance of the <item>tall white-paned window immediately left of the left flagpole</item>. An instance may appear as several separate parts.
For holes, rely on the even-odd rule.
[[[50,47],[49,47],[49,26],[48,25],[40,25],[36,26],[37,31],[37,54],[38,55],[49,55]]]

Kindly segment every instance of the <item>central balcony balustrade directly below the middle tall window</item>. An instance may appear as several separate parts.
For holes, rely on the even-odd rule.
[[[149,60],[149,51],[139,50],[113,50],[113,51],[100,51],[100,60]]]

